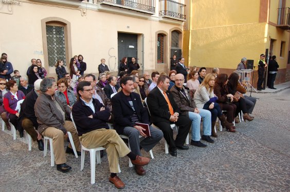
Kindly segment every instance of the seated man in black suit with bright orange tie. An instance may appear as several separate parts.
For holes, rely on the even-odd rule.
[[[152,123],[162,130],[164,139],[169,144],[170,155],[176,157],[176,149],[189,149],[188,146],[184,146],[184,143],[191,126],[191,120],[181,114],[170,91],[168,91],[169,82],[168,76],[161,75],[158,78],[157,86],[148,94],[147,106],[151,113]],[[170,124],[173,123],[179,126],[175,141],[170,127]]]

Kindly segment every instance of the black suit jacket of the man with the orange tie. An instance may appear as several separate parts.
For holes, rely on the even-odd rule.
[[[178,112],[180,114],[181,111],[177,107],[170,91],[166,91],[166,94],[173,108],[173,111]],[[152,123],[156,122],[170,123],[171,114],[169,111],[168,103],[165,100],[164,95],[159,91],[157,86],[149,92],[147,97],[147,106],[151,114]]]

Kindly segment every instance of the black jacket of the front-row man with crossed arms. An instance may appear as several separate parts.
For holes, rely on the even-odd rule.
[[[111,116],[110,110],[97,99],[93,99],[93,104],[95,106],[95,113],[81,99],[71,109],[79,136],[96,129],[109,128],[106,122]],[[100,111],[101,107],[105,107],[105,110]],[[93,118],[88,118],[91,114]]]

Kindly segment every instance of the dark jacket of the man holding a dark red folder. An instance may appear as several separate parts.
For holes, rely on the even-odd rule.
[[[140,95],[138,93],[132,92],[130,94],[131,100],[133,102],[136,114],[138,116],[140,123],[149,124],[148,110],[143,106]],[[134,111],[126,99],[126,95],[123,91],[118,92],[112,98],[112,109],[114,115],[114,129],[118,134],[122,134],[124,127],[134,127],[135,123],[131,121],[131,117]]]

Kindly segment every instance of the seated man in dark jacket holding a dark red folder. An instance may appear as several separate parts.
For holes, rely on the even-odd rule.
[[[133,79],[124,76],[121,79],[122,90],[112,98],[112,109],[115,118],[114,128],[119,134],[129,137],[131,151],[141,156],[140,149],[150,151],[163,137],[162,131],[149,126],[151,136],[146,137],[145,129],[136,122],[149,124],[148,110],[141,103],[140,95],[133,92]],[[145,137],[141,142],[139,135]],[[146,171],[140,165],[134,166],[138,175],[145,175]]]

